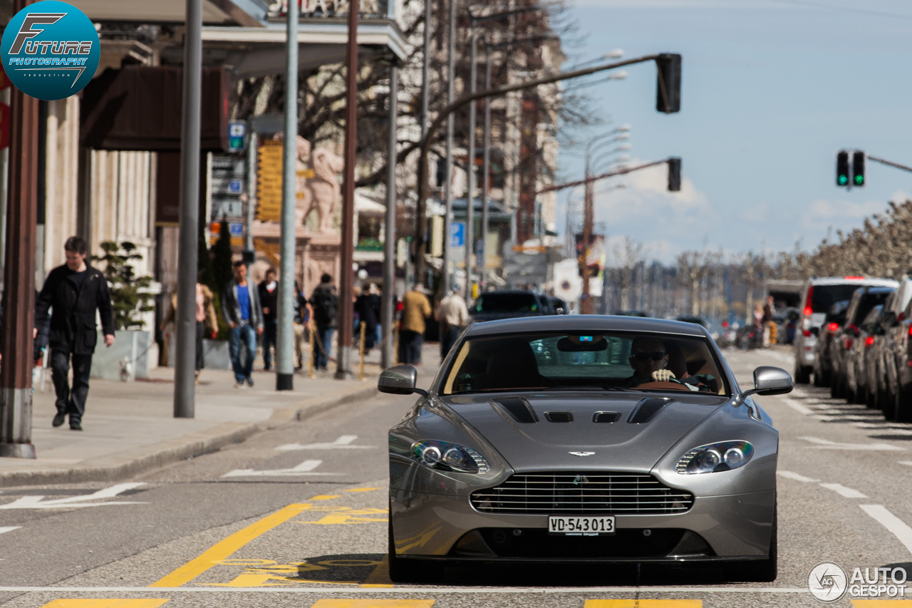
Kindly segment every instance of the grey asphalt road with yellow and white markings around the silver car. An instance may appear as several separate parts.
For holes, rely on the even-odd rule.
[[[792,369],[784,349],[726,357],[742,386],[757,365]],[[776,582],[543,567],[458,569],[438,586],[394,586],[384,561],[386,430],[414,399],[384,395],[118,484],[0,490],[0,604],[814,606],[807,577],[819,562],[850,576],[887,566],[912,573],[912,425],[813,386],[758,401],[780,431]],[[834,605],[853,604],[846,596]]]

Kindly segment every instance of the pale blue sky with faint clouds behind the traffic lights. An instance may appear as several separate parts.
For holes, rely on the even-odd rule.
[[[912,193],[912,173],[876,162],[865,187],[835,185],[842,148],[912,165],[912,3],[575,0],[568,16],[581,36],[564,69],[617,47],[683,56],[678,114],[655,110],[652,62],[587,88],[613,122],[577,133],[584,147],[628,124],[630,164],[682,159],[679,193],[666,192],[663,165],[596,186],[609,243],[633,237],[662,262],[687,249],[810,251]],[[582,177],[582,157],[562,149],[565,179]],[[568,198],[579,217],[582,190],[560,194],[562,235]]]

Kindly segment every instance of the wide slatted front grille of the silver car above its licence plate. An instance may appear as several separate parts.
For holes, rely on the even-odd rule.
[[[517,473],[500,486],[472,492],[482,513],[525,515],[662,515],[683,513],[693,495],[641,473]]]

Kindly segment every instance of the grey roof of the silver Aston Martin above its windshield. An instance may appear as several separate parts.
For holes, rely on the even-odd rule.
[[[467,337],[487,336],[517,331],[643,331],[647,333],[674,333],[704,337],[702,327],[694,323],[644,317],[618,317],[615,315],[557,315],[524,317],[474,323],[466,330]]]

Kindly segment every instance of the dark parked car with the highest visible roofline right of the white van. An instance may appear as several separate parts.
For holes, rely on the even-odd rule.
[[[896,281],[893,281],[896,283]],[[898,286],[898,283],[896,283]],[[845,324],[836,330],[835,348],[830,349],[833,382],[830,384],[830,396],[845,397],[850,404],[856,403],[855,394],[855,340],[861,330],[867,313],[878,304],[882,305],[886,297],[896,291],[895,287],[865,287],[855,290],[845,310]]]

